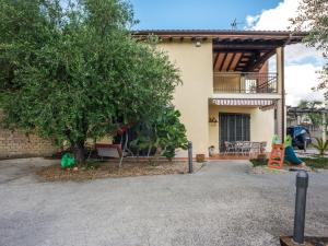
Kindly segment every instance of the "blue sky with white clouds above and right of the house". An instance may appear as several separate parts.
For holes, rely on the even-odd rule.
[[[136,19],[134,30],[230,30],[234,19],[238,30],[283,31],[296,15],[301,0],[130,0]],[[324,99],[312,87],[318,84],[323,56],[303,44],[285,48],[286,104],[301,99]]]

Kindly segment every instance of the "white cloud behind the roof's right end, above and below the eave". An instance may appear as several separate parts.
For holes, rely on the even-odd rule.
[[[297,15],[301,0],[283,0],[276,8],[263,10],[259,15],[248,15],[248,30],[286,31],[290,19]],[[318,84],[316,71],[321,69],[324,59],[321,52],[303,44],[285,47],[285,87],[286,104],[297,105],[301,99],[323,99],[323,94],[313,92]]]

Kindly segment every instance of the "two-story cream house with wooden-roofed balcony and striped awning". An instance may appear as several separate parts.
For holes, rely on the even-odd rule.
[[[284,47],[304,34],[150,30],[133,35],[156,35],[159,48],[179,68],[183,84],[173,104],[195,154],[208,155],[211,145],[222,152],[225,141],[265,141],[269,151],[274,133],[284,138]]]

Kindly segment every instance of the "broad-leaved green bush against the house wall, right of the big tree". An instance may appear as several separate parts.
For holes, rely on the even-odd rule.
[[[155,149],[155,156],[164,155],[168,160],[175,156],[176,149],[186,149],[188,140],[186,128],[179,121],[180,113],[173,107],[166,107],[155,118],[144,120],[142,130],[131,144],[140,149]]]

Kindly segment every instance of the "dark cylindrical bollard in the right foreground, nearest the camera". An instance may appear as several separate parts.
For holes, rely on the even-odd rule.
[[[304,244],[307,186],[308,186],[308,174],[305,171],[300,171],[296,175],[296,200],[295,200],[295,218],[294,218],[294,234],[293,234],[293,241],[297,244]]]

